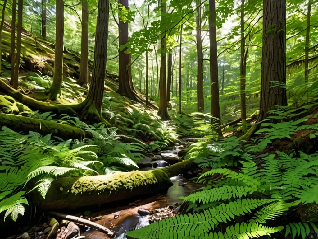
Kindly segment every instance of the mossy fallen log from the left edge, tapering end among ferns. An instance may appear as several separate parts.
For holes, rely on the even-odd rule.
[[[57,123],[50,120],[39,120],[28,118],[20,115],[0,113],[0,126],[7,126],[17,132],[29,130],[41,134],[52,134],[61,138],[67,137],[72,139],[92,138],[89,132],[84,132],[82,129],[66,124]]]

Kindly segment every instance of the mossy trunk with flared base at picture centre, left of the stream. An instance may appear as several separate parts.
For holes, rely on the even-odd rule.
[[[167,13],[167,0],[161,0],[161,25],[164,24]],[[162,120],[171,120],[167,108],[167,33],[161,35],[161,62],[160,62],[160,83],[159,83],[159,110],[158,115]]]

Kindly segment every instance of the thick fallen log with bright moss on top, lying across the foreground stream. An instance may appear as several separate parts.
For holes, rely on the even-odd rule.
[[[52,183],[45,199],[36,192],[32,194],[32,199],[45,210],[75,208],[158,193],[170,186],[172,182],[163,170],[64,177]]]

